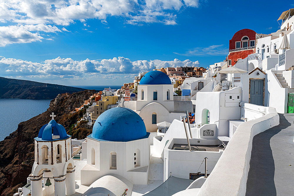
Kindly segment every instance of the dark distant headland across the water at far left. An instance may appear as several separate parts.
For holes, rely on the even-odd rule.
[[[58,84],[0,77],[0,98],[54,99],[61,93],[74,93],[86,89]]]

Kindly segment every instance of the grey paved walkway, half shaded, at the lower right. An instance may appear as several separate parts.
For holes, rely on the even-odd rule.
[[[294,195],[294,115],[279,115],[278,126],[253,138],[246,195]]]

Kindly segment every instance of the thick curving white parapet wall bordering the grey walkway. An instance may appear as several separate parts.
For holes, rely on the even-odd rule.
[[[240,124],[198,195],[245,195],[253,137],[279,124],[274,108]]]

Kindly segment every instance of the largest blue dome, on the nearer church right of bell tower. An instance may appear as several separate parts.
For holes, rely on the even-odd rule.
[[[127,142],[147,135],[142,118],[129,108],[111,108],[96,120],[90,137],[98,140]]]

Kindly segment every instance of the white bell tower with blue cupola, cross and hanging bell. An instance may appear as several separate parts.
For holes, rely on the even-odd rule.
[[[75,166],[71,156],[71,136],[65,128],[52,120],[43,125],[35,140],[35,162],[32,169],[33,196],[65,196],[75,193]],[[44,188],[42,188],[42,180]],[[43,191],[43,189],[45,189]],[[44,192],[44,194],[43,194]]]

